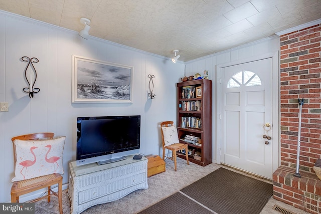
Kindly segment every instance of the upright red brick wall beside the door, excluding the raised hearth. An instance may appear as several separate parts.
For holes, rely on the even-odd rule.
[[[301,117],[300,169],[313,172],[321,158],[321,24],[280,37],[281,165],[296,167],[298,98]]]

